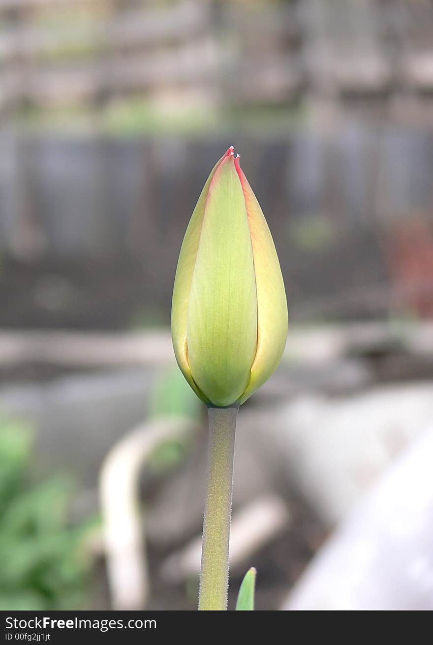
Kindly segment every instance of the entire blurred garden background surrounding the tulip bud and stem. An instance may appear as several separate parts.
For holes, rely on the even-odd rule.
[[[229,608],[433,609],[433,5],[0,1],[0,607],[195,610],[183,233],[230,144],[288,293]]]

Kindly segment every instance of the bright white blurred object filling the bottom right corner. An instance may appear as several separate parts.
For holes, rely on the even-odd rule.
[[[433,427],[342,523],[283,610],[433,610]]]

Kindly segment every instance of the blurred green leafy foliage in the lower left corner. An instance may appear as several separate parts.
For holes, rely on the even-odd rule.
[[[0,610],[79,608],[88,526],[68,525],[70,483],[32,470],[29,428],[0,419]]]

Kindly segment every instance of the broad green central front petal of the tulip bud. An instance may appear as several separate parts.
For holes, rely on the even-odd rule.
[[[244,392],[257,347],[253,251],[234,157],[219,164],[202,219],[188,306],[187,359],[216,406]]]

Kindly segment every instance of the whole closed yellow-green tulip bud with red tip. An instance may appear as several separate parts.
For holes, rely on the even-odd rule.
[[[183,238],[171,324],[180,369],[208,405],[243,403],[281,360],[281,268],[233,146],[210,173]]]

